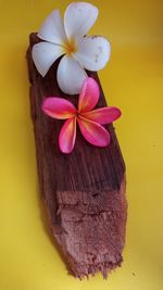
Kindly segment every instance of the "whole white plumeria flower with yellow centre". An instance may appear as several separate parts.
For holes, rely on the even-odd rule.
[[[79,93],[87,77],[84,68],[95,72],[103,68],[110,58],[110,43],[101,36],[86,36],[98,17],[98,9],[87,2],[71,3],[64,14],[54,10],[43,22],[33,47],[33,60],[43,77],[54,61],[61,59],[57,79],[64,93]]]

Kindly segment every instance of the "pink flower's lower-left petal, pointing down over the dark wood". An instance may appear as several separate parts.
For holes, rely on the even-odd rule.
[[[76,117],[65,121],[59,136],[59,147],[63,153],[71,153],[76,139]]]

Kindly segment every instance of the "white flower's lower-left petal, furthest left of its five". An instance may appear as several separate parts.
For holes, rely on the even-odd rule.
[[[32,56],[37,71],[43,77],[54,61],[64,53],[61,46],[50,42],[39,42],[33,47]]]

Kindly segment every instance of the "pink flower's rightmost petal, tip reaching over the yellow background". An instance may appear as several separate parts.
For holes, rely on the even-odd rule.
[[[112,123],[121,117],[121,110],[115,106],[100,108],[87,113],[83,113],[83,116],[99,124]]]

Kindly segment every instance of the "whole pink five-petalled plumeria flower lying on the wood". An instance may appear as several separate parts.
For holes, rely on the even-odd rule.
[[[63,153],[71,153],[76,139],[76,122],[84,138],[97,147],[110,143],[110,134],[101,125],[112,123],[121,116],[121,111],[114,106],[92,110],[99,101],[100,90],[97,81],[88,77],[83,84],[78,110],[67,100],[52,97],[42,103],[43,112],[58,119],[66,119],[59,136],[59,147]]]

